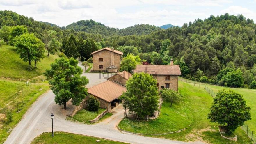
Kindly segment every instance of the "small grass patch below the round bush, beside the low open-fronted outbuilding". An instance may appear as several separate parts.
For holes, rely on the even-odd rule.
[[[106,109],[99,108],[98,111],[88,111],[86,109],[82,109],[78,111],[73,117],[67,117],[68,120],[76,120],[79,122],[90,124],[90,120],[96,118],[100,113],[105,111]],[[106,115],[106,117],[109,115]],[[104,118],[104,117],[102,117]]]

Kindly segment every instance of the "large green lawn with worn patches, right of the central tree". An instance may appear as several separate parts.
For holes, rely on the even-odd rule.
[[[136,121],[124,119],[118,125],[121,129],[140,133],[171,132],[192,125],[179,133],[166,135],[145,135],[159,138],[176,139],[180,141],[203,141],[205,143],[250,143],[250,139],[239,127],[234,134],[238,141],[230,141],[220,136],[218,124],[209,122],[207,114],[213,98],[202,88],[197,88],[179,81],[179,92],[183,95],[183,102],[173,104],[163,103],[161,114],[157,120]]]

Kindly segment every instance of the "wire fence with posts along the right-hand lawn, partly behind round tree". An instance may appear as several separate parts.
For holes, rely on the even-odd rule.
[[[183,77],[179,77],[179,80],[183,81],[183,82],[186,82],[186,83],[190,83],[191,85],[194,85],[194,86],[199,87],[199,88],[204,87],[204,90],[206,90],[207,93],[209,93],[213,98],[216,96],[216,92],[214,92],[214,90],[212,88],[209,88],[207,86],[207,85],[209,85],[209,83],[201,83],[201,82],[198,82],[198,81],[192,81],[192,80],[189,80],[189,79],[185,79]],[[215,84],[212,84],[212,85],[216,86]],[[221,86],[221,85],[217,85],[217,86]],[[245,131],[245,133],[251,139],[253,144],[256,144],[256,132],[250,130],[249,126],[246,125],[246,124],[241,126],[241,128],[243,129],[243,131]]]

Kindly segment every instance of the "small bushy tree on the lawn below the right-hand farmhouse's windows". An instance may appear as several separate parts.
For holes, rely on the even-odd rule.
[[[170,102],[172,106],[174,102],[180,102],[182,100],[181,95],[179,94],[179,92],[175,91],[175,90],[171,90],[171,89],[163,89],[161,91],[161,96],[163,97],[163,100],[165,100],[166,102]]]

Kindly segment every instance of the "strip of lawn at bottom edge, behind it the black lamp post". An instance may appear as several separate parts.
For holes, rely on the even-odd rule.
[[[96,142],[96,140],[100,140]],[[31,144],[127,144],[117,141],[110,141],[103,138],[96,138],[91,136],[84,136],[79,134],[71,134],[66,132],[55,132],[54,137],[51,137],[51,133],[43,133],[36,137]]]

